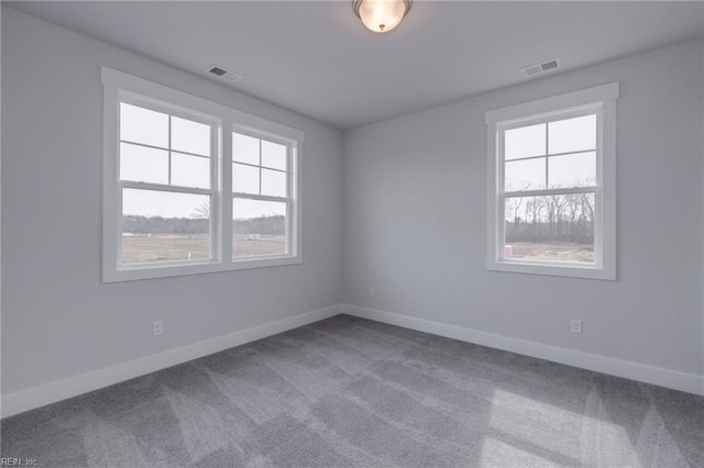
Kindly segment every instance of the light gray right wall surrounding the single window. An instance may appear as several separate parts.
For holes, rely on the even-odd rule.
[[[690,42],[349,132],[345,302],[704,375],[702,66]],[[618,280],[487,271],[484,112],[610,81]]]

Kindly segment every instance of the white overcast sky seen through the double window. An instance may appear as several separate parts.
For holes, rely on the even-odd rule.
[[[170,185],[210,188],[208,125],[127,103],[120,104],[120,113],[122,180],[169,185],[170,176]],[[233,158],[242,163],[261,163],[286,170],[286,147],[283,145],[234,134],[233,153]],[[240,164],[233,169],[235,190],[258,193],[261,189],[266,194],[286,196],[285,172]],[[202,194],[124,189],[122,212],[125,215],[196,218],[204,209],[208,211],[209,205],[210,198]],[[235,199],[233,210],[238,219],[258,218],[285,214],[286,204]]]

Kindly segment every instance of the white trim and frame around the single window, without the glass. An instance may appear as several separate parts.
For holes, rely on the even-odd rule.
[[[616,279],[616,99],[618,96],[618,82],[612,82],[486,112],[487,269],[602,280]],[[499,245],[502,245],[501,236],[504,235],[504,213],[501,210],[502,207],[499,207],[502,199],[499,194],[503,187],[499,185],[502,160],[498,154],[498,130],[503,125],[539,121],[556,113],[579,111],[584,108],[598,108],[597,187],[594,192],[597,210],[596,219],[594,220],[594,239],[595,254],[601,249],[601,263],[598,261],[600,258],[596,258],[595,264],[584,266],[575,263],[503,259],[498,252]],[[597,239],[601,242],[597,242]]]

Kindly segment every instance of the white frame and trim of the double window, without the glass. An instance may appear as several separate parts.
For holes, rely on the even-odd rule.
[[[166,278],[302,263],[302,223],[300,158],[304,132],[258,118],[217,102],[158,85],[112,68],[101,68],[103,85],[103,191],[102,191],[102,282]],[[125,182],[119,172],[119,105],[132,101],[148,109],[208,122],[212,134],[211,188],[187,189],[145,182]],[[275,141],[288,148],[288,203],[286,254],[232,257],[232,132]],[[205,260],[160,261],[121,265],[122,188],[202,193],[211,196],[211,258]],[[261,198],[261,196],[260,196]],[[267,198],[267,197],[264,197]],[[277,198],[277,201],[280,198]]]

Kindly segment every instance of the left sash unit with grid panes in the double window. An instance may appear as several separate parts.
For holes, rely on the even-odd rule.
[[[129,94],[118,109],[119,267],[212,260],[217,120]]]

